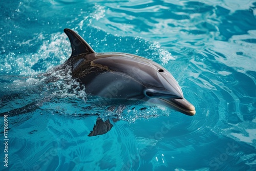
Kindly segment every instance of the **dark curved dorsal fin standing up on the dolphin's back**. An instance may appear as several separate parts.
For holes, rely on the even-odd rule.
[[[64,29],[64,32],[67,34],[70,40],[72,54],[71,57],[82,54],[82,53],[95,53],[90,45],[76,32],[71,29]]]

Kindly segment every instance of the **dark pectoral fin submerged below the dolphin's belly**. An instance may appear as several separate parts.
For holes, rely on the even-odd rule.
[[[113,119],[113,122],[117,122],[119,119]],[[91,136],[97,136],[102,135],[107,132],[109,132],[113,127],[113,124],[110,123],[110,119],[107,119],[106,121],[103,121],[101,118],[97,118],[96,124],[93,127],[93,131],[88,135]]]

